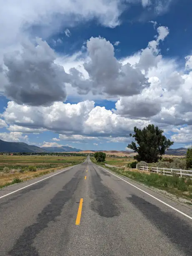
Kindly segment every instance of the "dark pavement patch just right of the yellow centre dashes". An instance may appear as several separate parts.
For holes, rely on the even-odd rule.
[[[94,167],[92,167],[94,168]],[[95,168],[94,168],[95,169]],[[92,174],[92,191],[93,201],[91,202],[91,209],[97,212],[100,216],[112,218],[120,215],[120,205],[117,197],[112,189],[102,184],[102,179],[95,169]]]

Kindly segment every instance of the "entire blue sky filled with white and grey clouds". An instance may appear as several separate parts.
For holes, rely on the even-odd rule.
[[[1,3],[0,139],[125,150],[154,123],[191,146],[190,0],[16,2]]]

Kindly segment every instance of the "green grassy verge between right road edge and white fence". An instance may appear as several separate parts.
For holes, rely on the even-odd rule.
[[[93,161],[93,163],[98,164],[95,159],[91,158],[91,160]],[[105,167],[104,164],[99,165]],[[177,196],[182,196],[192,200],[192,179],[187,179],[184,177],[180,178],[175,176],[172,177],[155,173],[142,173],[134,171],[133,169],[132,171],[110,167],[107,167],[107,169],[110,169],[113,172],[128,177],[134,181],[146,184],[147,186],[163,189]]]

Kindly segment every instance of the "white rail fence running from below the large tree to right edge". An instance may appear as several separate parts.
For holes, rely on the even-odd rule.
[[[189,176],[192,177],[192,170],[182,170],[182,169],[168,169],[160,167],[150,167],[150,166],[136,166],[137,169],[147,172],[157,172],[159,174],[173,176],[173,174],[179,174],[180,177]]]

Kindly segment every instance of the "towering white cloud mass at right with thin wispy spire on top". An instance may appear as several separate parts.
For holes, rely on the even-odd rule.
[[[185,69],[181,69],[175,59],[164,59],[161,56],[158,49],[159,41],[165,39],[169,30],[166,27],[159,27],[157,31],[156,40],[149,43],[152,43],[153,47],[146,48],[151,52],[155,62],[149,65],[147,57],[143,55],[145,50],[133,58],[127,58],[135,61],[132,62],[133,66],[139,66],[142,59],[150,87],[144,88],[139,95],[120,97],[116,102],[116,113],[149,120],[157,125],[191,125],[192,71],[185,74]],[[190,56],[185,60],[185,66],[190,66]]]

